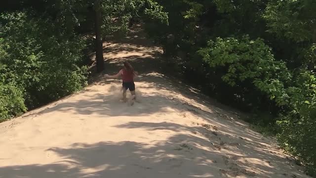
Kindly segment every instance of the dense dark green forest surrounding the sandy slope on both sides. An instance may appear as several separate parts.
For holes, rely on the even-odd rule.
[[[103,37],[135,21],[172,70],[250,111],[316,177],[315,0],[1,2],[0,120],[82,89],[87,52],[103,71]]]

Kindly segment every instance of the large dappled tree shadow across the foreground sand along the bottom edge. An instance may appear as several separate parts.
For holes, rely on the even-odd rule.
[[[191,131],[191,128],[169,123],[128,123],[117,127]],[[201,128],[194,129],[198,134],[205,132]],[[282,178],[284,175],[275,171],[290,169],[264,152],[221,153],[216,148],[217,140],[210,142],[196,135],[175,134],[168,140],[156,140],[153,144],[122,141],[73,143],[66,148],[49,148],[47,151],[58,154],[62,161],[0,167],[0,178]],[[243,144],[239,149],[248,150]],[[242,162],[243,158],[251,162]],[[274,160],[259,162],[267,158]],[[296,176],[303,177],[299,173]]]

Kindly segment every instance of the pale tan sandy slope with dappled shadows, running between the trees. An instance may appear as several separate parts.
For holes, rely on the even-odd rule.
[[[133,35],[105,43],[105,57],[115,71],[133,61],[139,103],[101,78],[1,123],[0,178],[307,178],[236,112],[154,72],[159,48]]]

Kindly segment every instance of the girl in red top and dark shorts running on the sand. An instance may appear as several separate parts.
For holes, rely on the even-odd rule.
[[[130,65],[128,61],[124,61],[124,67],[118,72],[118,74],[114,76],[106,74],[105,77],[110,78],[110,79],[115,79],[122,76],[123,102],[126,102],[126,90],[129,89],[132,95],[131,105],[133,105],[136,99],[134,77],[137,75],[138,73],[134,71],[132,65]]]

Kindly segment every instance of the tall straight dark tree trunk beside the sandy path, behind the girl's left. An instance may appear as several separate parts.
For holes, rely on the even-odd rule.
[[[95,29],[95,59],[97,72],[102,72],[104,70],[104,60],[103,60],[103,42],[101,36],[101,9],[100,9],[100,0],[96,0],[94,4],[95,10],[95,20],[94,20],[94,29]]]

